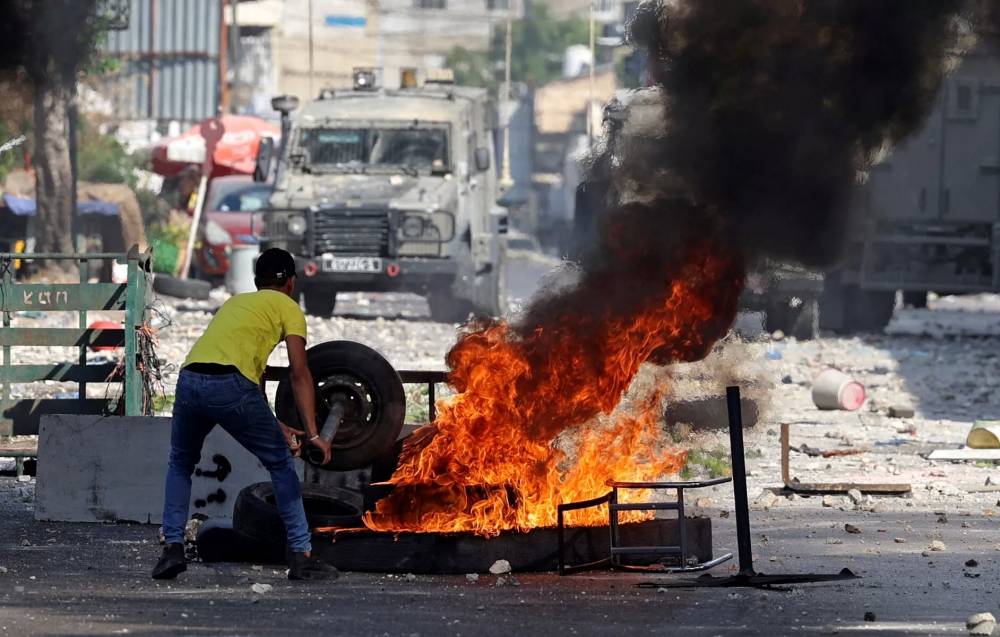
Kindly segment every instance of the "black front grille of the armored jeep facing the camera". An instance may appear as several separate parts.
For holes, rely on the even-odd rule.
[[[319,210],[313,222],[313,254],[389,256],[385,210]]]

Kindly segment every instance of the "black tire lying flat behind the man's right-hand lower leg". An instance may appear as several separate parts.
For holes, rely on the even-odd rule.
[[[362,497],[354,491],[303,484],[302,504],[310,530],[328,526],[362,526]],[[274,486],[270,482],[251,484],[236,496],[233,529],[254,542],[269,547],[279,546],[284,551],[287,540],[285,524],[278,513],[278,505],[274,501]]]

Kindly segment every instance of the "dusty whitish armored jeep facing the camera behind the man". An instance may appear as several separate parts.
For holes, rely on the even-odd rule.
[[[295,255],[311,314],[332,314],[339,292],[405,291],[426,296],[436,320],[499,316],[507,212],[493,102],[447,78],[384,89],[375,77],[357,70],[353,89],[301,109],[272,101],[283,135],[258,156],[260,180],[277,162],[262,247]]]

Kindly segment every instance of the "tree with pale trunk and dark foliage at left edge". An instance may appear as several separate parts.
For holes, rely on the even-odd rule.
[[[98,0],[0,3],[0,68],[23,69],[34,89],[36,250],[73,251],[70,117],[79,74],[106,30]],[[9,39],[5,39],[7,36]]]

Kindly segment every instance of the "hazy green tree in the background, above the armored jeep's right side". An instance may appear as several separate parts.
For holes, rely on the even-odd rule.
[[[524,18],[515,20],[511,32],[511,76],[529,86],[541,86],[562,76],[563,55],[573,44],[590,41],[590,25],[582,18],[557,20],[541,3],[529,3]],[[506,47],[505,25],[493,30],[489,51],[455,47],[447,57],[455,80],[469,86],[496,91],[503,83]]]

